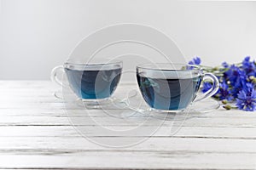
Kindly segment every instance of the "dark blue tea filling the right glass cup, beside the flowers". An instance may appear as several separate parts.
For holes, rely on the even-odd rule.
[[[186,108],[197,93],[201,76],[196,77],[145,77],[137,73],[137,82],[144,100],[154,109],[182,110]]]

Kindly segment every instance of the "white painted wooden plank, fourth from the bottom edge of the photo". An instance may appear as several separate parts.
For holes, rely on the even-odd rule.
[[[101,113],[99,113],[100,115]],[[96,122],[99,122],[103,126],[111,126],[111,125],[119,125],[119,126],[137,126],[138,123],[144,122],[143,119],[120,119],[115,117],[109,117],[106,116],[106,114],[103,113],[104,117],[102,116],[94,116],[93,119],[96,120]],[[2,116],[0,119],[0,126],[69,126],[71,125],[71,122],[69,122],[69,119],[73,121],[73,124],[75,125],[84,125],[84,126],[90,126],[95,125],[95,122],[91,122],[90,116]],[[176,121],[177,125],[180,125],[183,123],[183,120]],[[151,122],[147,122],[146,124],[143,124],[144,126],[149,125],[159,125],[160,120],[159,119],[152,119]],[[166,121],[164,122],[163,126],[170,126],[172,124],[172,121]],[[255,119],[245,118],[221,118],[221,117],[211,117],[208,118],[207,116],[198,116],[191,119],[186,120],[183,123],[183,127],[256,127],[256,121]]]

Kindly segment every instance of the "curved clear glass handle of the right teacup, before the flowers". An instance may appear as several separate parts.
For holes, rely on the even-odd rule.
[[[203,99],[208,99],[218,92],[218,78],[215,77],[215,75],[213,75],[212,73],[205,73],[203,76],[203,80],[205,79],[210,79],[212,81],[212,88],[210,88],[206,93],[204,93],[199,99],[195,99],[194,102],[201,101]]]

